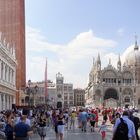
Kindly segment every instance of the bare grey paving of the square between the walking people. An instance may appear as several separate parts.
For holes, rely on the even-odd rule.
[[[109,123],[108,123],[109,124]],[[99,122],[100,126],[100,122]],[[109,124],[107,128],[106,140],[110,140],[112,136],[112,125]],[[98,132],[99,128],[95,129],[95,132],[90,131],[89,124],[87,125],[87,132],[82,132],[76,125],[74,130],[66,129],[64,133],[64,140],[101,140],[101,135]],[[34,134],[31,140],[40,140],[38,134]],[[56,140],[54,130],[51,127],[47,128],[47,137],[45,140]]]

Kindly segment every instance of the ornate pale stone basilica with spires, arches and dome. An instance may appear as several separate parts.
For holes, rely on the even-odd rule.
[[[140,108],[140,51],[137,41],[122,64],[101,68],[100,55],[93,62],[85,93],[86,107]]]

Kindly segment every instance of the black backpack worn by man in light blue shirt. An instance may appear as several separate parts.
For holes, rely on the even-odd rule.
[[[128,140],[127,123],[122,118],[120,121],[112,140]]]

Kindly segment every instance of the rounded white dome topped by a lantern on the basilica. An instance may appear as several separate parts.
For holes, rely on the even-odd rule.
[[[137,41],[124,53],[124,63],[128,66],[140,65],[140,50]]]

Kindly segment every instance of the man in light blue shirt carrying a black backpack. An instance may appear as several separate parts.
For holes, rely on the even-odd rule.
[[[128,111],[124,111],[122,118],[116,120],[112,140],[136,140],[135,126],[128,116]]]

